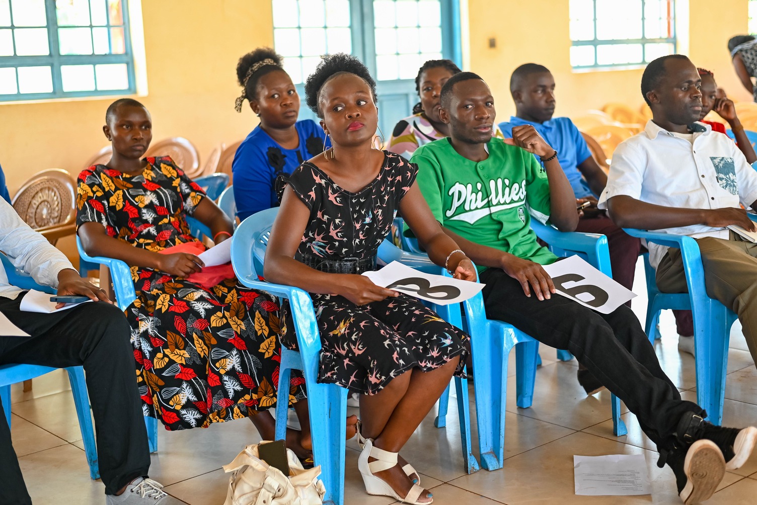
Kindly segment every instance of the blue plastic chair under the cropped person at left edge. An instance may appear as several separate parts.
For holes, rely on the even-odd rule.
[[[38,290],[45,293],[55,293],[51,287],[40,286],[34,282],[29,275],[20,273],[11,264],[5,254],[0,253],[2,265],[5,268],[5,274],[8,275],[8,282],[24,290]],[[18,337],[18,338],[23,338]],[[3,364],[0,365],[0,401],[5,411],[5,420],[8,422],[8,428],[11,427],[11,385],[30,380],[45,373],[58,370],[55,367],[43,367],[36,364]],[[68,380],[71,383],[71,393],[73,394],[73,403],[76,405],[76,417],[79,418],[79,429],[82,432],[82,441],[84,443],[84,453],[89,464],[89,476],[92,479],[100,478],[100,469],[98,468],[97,445],[95,444],[95,429],[92,426],[92,417],[89,414],[89,396],[87,395],[87,385],[84,379],[83,367],[66,367]]]

